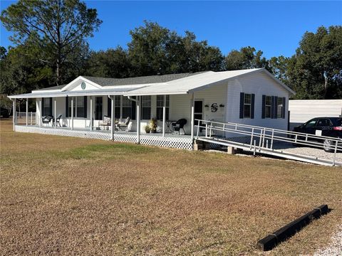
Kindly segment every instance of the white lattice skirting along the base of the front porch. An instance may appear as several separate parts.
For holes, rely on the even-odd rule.
[[[67,137],[78,137],[86,139],[103,139],[110,141],[110,133],[106,132],[88,132],[82,130],[70,129],[52,129],[39,127],[26,127],[16,125],[16,132],[32,132],[38,134],[50,134]],[[114,134],[113,141],[115,142],[137,142],[135,134]],[[161,137],[154,135],[140,135],[140,144],[152,146],[164,146],[175,149],[190,149],[192,150],[192,141],[189,137]]]

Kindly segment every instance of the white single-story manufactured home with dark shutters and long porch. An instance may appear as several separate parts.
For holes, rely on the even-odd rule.
[[[17,132],[192,149],[194,136],[208,120],[286,130],[293,94],[259,68],[138,78],[80,76],[67,85],[9,98],[14,106],[16,99],[36,100],[35,113],[28,112],[28,104],[26,112],[14,112]],[[151,119],[157,127],[147,134]]]

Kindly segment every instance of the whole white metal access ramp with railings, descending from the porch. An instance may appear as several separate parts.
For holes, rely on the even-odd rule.
[[[203,142],[219,144],[222,146],[233,146],[254,154],[269,154],[285,159],[305,161],[312,164],[326,166],[342,166],[342,159],[336,157],[338,151],[342,151],[342,139],[301,132],[289,132],[281,129],[267,127],[257,127],[247,124],[237,124],[232,122],[216,122],[212,120],[195,119],[197,127],[196,139]],[[204,129],[204,132],[199,132]],[[203,134],[203,135],[202,135]],[[244,137],[243,142],[239,142],[237,137]],[[326,157],[311,156],[307,154],[294,154],[286,151],[286,145],[310,146],[317,149],[328,149]]]

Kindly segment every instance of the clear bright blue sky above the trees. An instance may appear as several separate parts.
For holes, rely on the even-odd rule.
[[[1,0],[1,11],[15,1]],[[89,38],[94,50],[123,46],[129,31],[154,21],[177,33],[192,31],[224,55],[253,46],[266,58],[293,55],[305,31],[342,25],[342,1],[86,1],[103,20]],[[1,24],[1,46],[11,45]]]

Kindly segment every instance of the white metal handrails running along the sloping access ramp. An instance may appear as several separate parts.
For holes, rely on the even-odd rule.
[[[198,123],[201,123],[201,126]],[[342,151],[342,139],[335,137],[318,136],[313,134],[305,134],[301,132],[289,132],[281,129],[271,129],[266,127],[257,127],[247,124],[236,124],[230,122],[214,122],[208,120],[196,119],[197,138],[204,137],[208,139],[217,139],[220,137],[228,137],[228,134],[239,134],[247,137],[248,142],[240,143],[250,151],[279,151],[276,144],[289,143],[294,145],[314,146],[320,149],[329,149],[332,156],[328,161],[331,165],[336,164],[336,153]],[[204,136],[199,134],[198,128],[205,129]],[[230,136],[232,137],[232,136]],[[234,137],[234,136],[233,136]],[[329,144],[324,142],[328,141]],[[239,143],[237,143],[239,144]],[[280,151],[281,153],[283,151]]]

